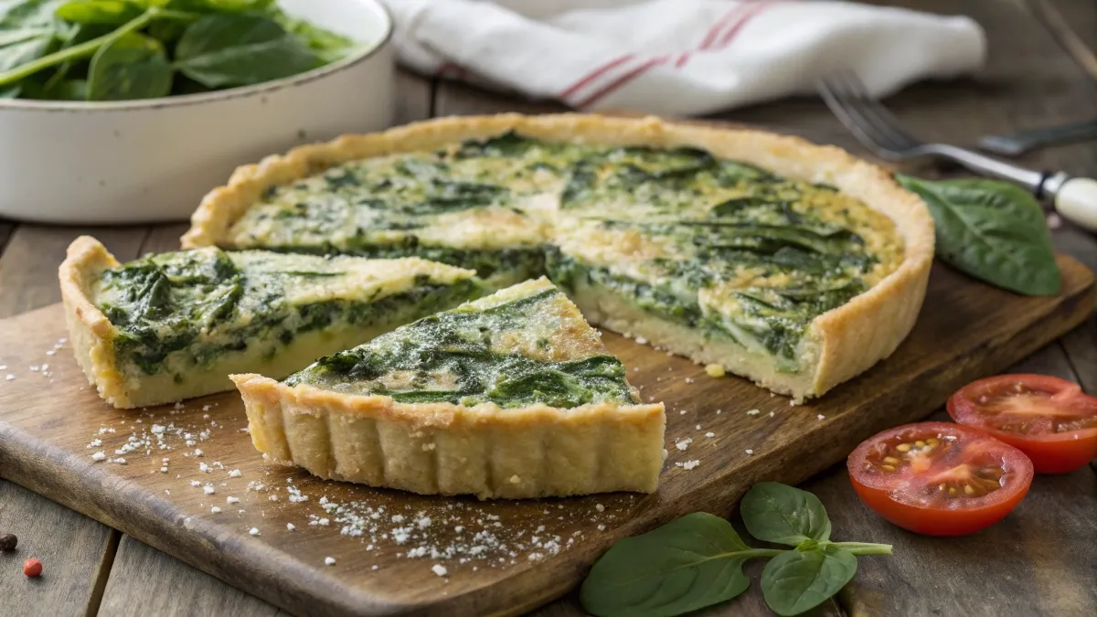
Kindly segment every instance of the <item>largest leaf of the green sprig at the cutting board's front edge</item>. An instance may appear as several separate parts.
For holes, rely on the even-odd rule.
[[[583,583],[593,615],[671,616],[733,598],[750,585],[743,562],[750,549],[732,524],[688,514],[606,552]]]

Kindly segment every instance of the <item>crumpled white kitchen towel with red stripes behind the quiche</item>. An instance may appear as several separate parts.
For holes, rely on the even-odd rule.
[[[400,61],[583,110],[689,116],[814,91],[850,69],[885,97],[980,67],[974,21],[794,0],[386,0]]]

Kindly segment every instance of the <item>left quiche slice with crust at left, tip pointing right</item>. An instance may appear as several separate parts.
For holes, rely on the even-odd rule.
[[[233,372],[284,377],[486,293],[472,270],[418,258],[211,247],[122,265],[88,236],[59,277],[77,360],[120,408],[231,390]]]

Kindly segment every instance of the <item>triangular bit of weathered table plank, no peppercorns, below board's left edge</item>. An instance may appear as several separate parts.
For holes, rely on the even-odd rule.
[[[125,536],[114,559],[99,617],[131,615],[285,615],[173,557]]]

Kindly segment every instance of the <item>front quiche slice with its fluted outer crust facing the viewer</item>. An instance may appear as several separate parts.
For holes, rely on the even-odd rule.
[[[256,448],[326,479],[518,498],[653,492],[663,467],[663,404],[543,278],[233,381]]]

